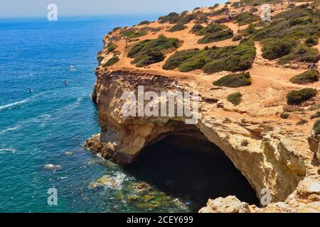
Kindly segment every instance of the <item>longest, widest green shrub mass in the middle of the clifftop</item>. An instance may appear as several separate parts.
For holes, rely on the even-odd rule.
[[[174,70],[178,67],[183,72],[202,69],[209,74],[223,70],[238,72],[250,69],[254,58],[255,46],[252,42],[247,42],[223,48],[179,51],[166,60],[163,69]]]

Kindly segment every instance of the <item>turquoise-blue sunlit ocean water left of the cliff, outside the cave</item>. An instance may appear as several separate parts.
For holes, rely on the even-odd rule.
[[[164,206],[130,203],[139,181],[81,146],[100,131],[90,93],[102,36],[148,18],[156,16],[0,21],[0,212],[188,211],[156,189]],[[104,175],[119,187],[90,190]],[[50,188],[58,206],[48,205]]]

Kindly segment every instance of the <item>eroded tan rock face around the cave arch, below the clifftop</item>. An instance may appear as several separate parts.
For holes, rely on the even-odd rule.
[[[223,101],[224,89],[206,87],[193,77],[159,75],[143,70],[111,71],[102,67],[96,74],[93,97],[99,109],[102,131],[86,141],[88,149],[128,165],[147,145],[166,135],[200,130],[230,158],[255,189],[258,198],[263,195],[262,189],[270,190],[274,203],[263,209],[250,206],[246,211],[320,211],[319,138],[309,133],[308,141],[309,134],[304,130],[292,133],[288,130],[291,123],[265,115],[265,111],[261,113],[248,106],[234,109]],[[137,91],[138,86],[144,86],[145,92],[200,92],[198,123],[186,125],[181,117],[124,117],[122,94]],[[227,198],[218,202],[230,201]],[[215,207],[210,200],[201,212],[223,211]]]

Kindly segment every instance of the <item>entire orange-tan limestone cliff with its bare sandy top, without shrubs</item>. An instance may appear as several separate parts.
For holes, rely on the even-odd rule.
[[[159,26],[158,22],[154,24]],[[231,24],[228,26],[232,27]],[[154,31],[151,38],[158,33],[166,32]],[[182,49],[186,45],[193,47],[190,37],[178,35],[188,41]],[[128,165],[146,146],[167,135],[200,131],[230,158],[255,189],[258,198],[263,195],[263,189],[269,189],[272,199],[271,204],[260,209],[230,195],[225,199],[209,200],[201,212],[320,212],[319,135],[311,130],[314,121],[299,123],[302,118],[310,117],[311,110],[319,105],[320,97],[316,96],[302,106],[302,111],[291,111],[290,118],[280,116],[284,110],[293,108],[287,106],[285,94],[294,87],[303,87],[283,78],[301,70],[261,65],[261,47],[256,43],[257,56],[249,70],[252,85],[215,87],[212,82],[228,72],[166,71],[161,70],[163,63],[138,68],[125,57],[128,47],[124,42],[127,41],[114,40],[110,35],[104,40],[105,43],[117,41],[121,59],[112,67],[103,66],[111,57],[107,44],[98,55],[100,65],[96,69],[97,82],[92,99],[99,109],[102,131],[86,141],[86,148]],[[234,44],[229,41],[218,45]],[[184,118],[176,116],[124,117],[122,94],[137,91],[138,86],[144,86],[144,92],[199,92],[198,123],[187,125]],[[314,86],[319,89],[317,84]],[[227,101],[232,92],[243,95],[240,105],[234,106]]]

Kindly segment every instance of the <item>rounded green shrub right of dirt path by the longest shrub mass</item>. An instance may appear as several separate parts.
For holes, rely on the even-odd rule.
[[[262,41],[262,57],[276,59],[288,55],[297,42],[292,39],[268,38]]]

